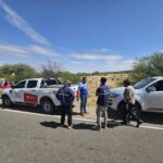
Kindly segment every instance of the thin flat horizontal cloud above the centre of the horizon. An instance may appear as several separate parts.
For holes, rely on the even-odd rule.
[[[70,54],[74,59],[80,60],[111,60],[117,61],[121,60],[123,57],[118,54],[82,54],[82,53],[71,53]]]

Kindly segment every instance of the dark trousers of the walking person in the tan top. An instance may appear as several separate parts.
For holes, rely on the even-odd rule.
[[[137,115],[137,110],[135,108],[135,104],[126,103],[124,111],[123,111],[123,121],[125,124],[129,122],[129,118],[133,117],[137,123],[140,122],[140,117]]]

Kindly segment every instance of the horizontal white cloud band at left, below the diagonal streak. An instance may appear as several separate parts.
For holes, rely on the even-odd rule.
[[[0,45],[0,54],[16,55],[26,58],[29,54],[40,54],[47,57],[58,55],[52,49],[43,48],[36,45],[30,45],[28,47],[22,47],[16,45]]]

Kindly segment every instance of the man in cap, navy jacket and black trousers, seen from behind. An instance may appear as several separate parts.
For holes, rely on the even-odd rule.
[[[67,114],[67,124],[68,129],[73,127],[72,125],[72,116],[73,116],[73,102],[75,99],[74,91],[70,88],[71,82],[65,82],[64,86],[59,89],[57,92],[57,98],[61,102],[61,126],[64,127],[65,114]]]

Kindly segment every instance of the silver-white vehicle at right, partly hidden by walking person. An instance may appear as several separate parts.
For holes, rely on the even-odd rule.
[[[163,76],[148,77],[135,86],[136,106],[139,111],[162,112],[163,113]],[[122,114],[124,108],[124,87],[111,89],[109,105],[111,109]]]

